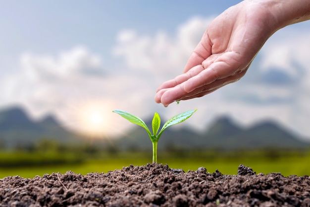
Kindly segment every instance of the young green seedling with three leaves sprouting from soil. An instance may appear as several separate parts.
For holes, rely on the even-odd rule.
[[[153,120],[152,120],[153,135],[152,135],[151,131],[149,130],[148,126],[145,124],[145,122],[142,119],[140,119],[139,117],[137,117],[131,113],[128,113],[126,111],[121,111],[121,110],[114,110],[113,112],[116,114],[119,114],[123,118],[127,119],[129,122],[136,124],[136,125],[139,125],[140,127],[143,127],[147,131],[149,137],[151,138],[152,145],[153,145],[153,162],[157,162],[157,142],[158,142],[158,139],[160,138],[161,134],[163,133],[163,131],[172,125],[176,125],[176,124],[179,124],[181,122],[184,122],[185,120],[190,118],[196,111],[197,111],[197,109],[192,110],[192,111],[187,111],[187,112],[184,112],[184,113],[181,113],[181,114],[178,114],[178,115],[172,117],[162,126],[159,133],[158,133],[158,130],[160,127],[160,117],[159,117],[158,113],[155,112]]]

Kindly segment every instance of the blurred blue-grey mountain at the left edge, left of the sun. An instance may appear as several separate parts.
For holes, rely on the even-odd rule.
[[[64,129],[52,115],[35,122],[19,107],[7,108],[0,112],[1,148],[30,146],[40,139],[70,143],[76,141],[76,138],[77,135]]]

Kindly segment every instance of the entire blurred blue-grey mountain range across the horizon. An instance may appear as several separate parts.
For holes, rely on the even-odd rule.
[[[151,119],[146,122],[151,126]],[[182,125],[182,124],[180,124]],[[305,148],[305,142],[271,121],[261,122],[244,129],[226,116],[219,117],[206,127],[206,131],[197,133],[189,128],[168,128],[158,142],[158,149],[172,148]],[[146,131],[134,126],[125,133],[125,137],[111,138],[120,149],[149,149],[152,143]],[[82,136],[63,128],[52,116],[40,121],[33,121],[19,107],[0,111],[0,148],[27,146],[41,139],[51,139],[60,143],[83,143]],[[103,143],[104,144],[104,143]]]

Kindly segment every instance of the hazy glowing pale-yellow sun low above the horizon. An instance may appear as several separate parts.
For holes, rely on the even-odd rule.
[[[78,110],[79,131],[92,138],[106,136],[112,128],[111,105],[102,102],[87,102]]]

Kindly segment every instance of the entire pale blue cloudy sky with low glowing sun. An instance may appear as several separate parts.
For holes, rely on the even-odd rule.
[[[21,106],[68,129],[112,136],[132,124],[112,110],[206,130],[227,115],[243,127],[276,121],[310,140],[310,21],[277,31],[246,75],[202,98],[154,101],[183,72],[207,25],[240,0],[0,1],[0,110]]]

